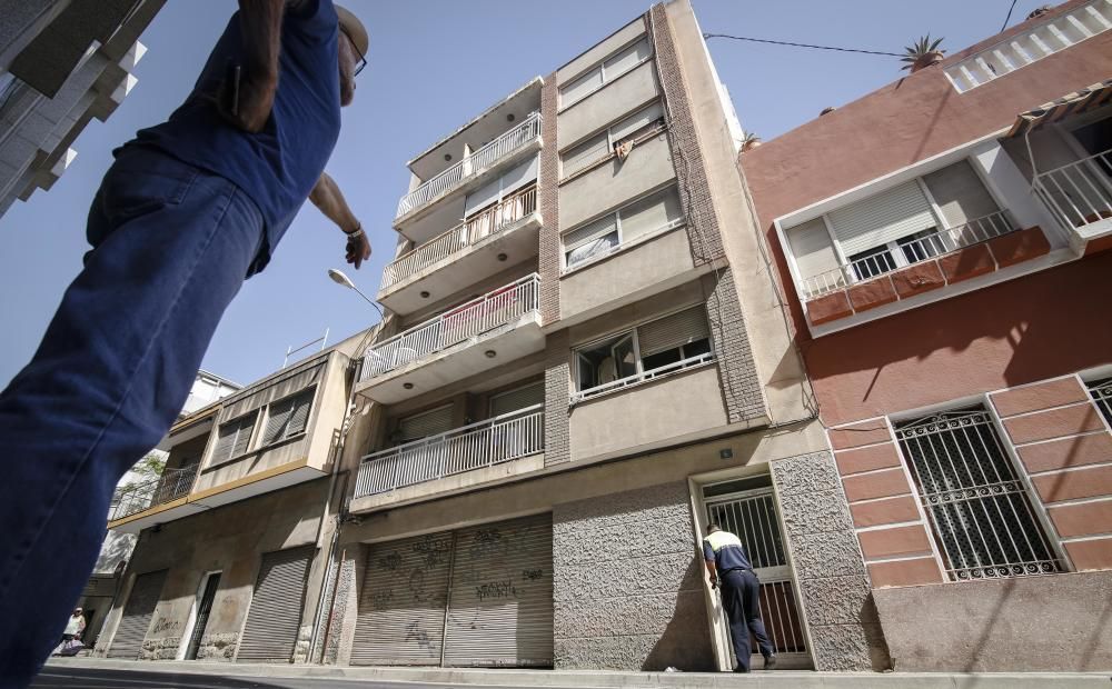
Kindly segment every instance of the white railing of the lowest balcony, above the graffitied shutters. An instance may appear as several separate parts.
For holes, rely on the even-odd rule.
[[[481,469],[545,449],[544,405],[399,445],[363,458],[355,497]]]

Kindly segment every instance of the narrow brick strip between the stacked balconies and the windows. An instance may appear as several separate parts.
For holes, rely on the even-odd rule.
[[[559,89],[556,72],[545,79],[540,89],[540,171],[537,208],[540,209],[540,318],[545,324],[559,320],[559,152],[556,146],[556,109]]]

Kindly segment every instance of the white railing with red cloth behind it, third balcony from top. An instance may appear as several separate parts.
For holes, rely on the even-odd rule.
[[[360,381],[400,368],[537,310],[540,276],[533,273],[367,348]]]

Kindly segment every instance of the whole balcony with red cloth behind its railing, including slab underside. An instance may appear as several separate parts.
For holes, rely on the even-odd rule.
[[[359,392],[393,405],[542,351],[539,286],[533,273],[371,346]]]

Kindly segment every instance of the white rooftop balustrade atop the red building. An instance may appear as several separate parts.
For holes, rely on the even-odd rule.
[[[1091,0],[947,67],[946,76],[957,92],[964,93],[1110,28],[1112,3]]]

